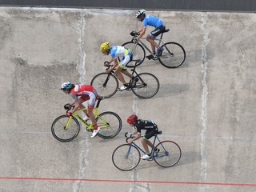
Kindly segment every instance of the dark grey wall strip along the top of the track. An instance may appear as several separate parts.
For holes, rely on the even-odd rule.
[[[2,6],[50,6],[103,9],[146,9],[146,10],[199,10],[199,11],[234,11],[255,12],[254,0],[0,0]]]

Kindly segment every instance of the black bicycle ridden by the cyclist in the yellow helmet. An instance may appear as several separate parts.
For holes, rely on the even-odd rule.
[[[130,62],[126,66],[133,68],[131,71],[135,78],[130,78],[129,86],[126,90],[132,90],[138,98],[152,98],[158,93],[160,87],[158,78],[150,73],[138,74],[135,68],[138,66],[137,63],[141,62],[141,60],[132,60],[132,62],[135,62],[134,65],[130,64]],[[110,64],[104,64],[104,66],[107,67],[106,70],[111,67]],[[114,74],[114,70],[112,70],[108,74],[100,73],[95,75],[90,85],[94,86],[98,94],[101,94],[104,98],[110,98],[118,91],[119,83],[117,76]]]

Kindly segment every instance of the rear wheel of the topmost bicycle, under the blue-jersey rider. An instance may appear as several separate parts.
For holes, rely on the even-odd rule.
[[[158,57],[159,62],[167,68],[177,68],[186,59],[184,48],[177,42],[166,42],[162,45],[162,55]]]

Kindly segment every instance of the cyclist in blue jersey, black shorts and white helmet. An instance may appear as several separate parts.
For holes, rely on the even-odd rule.
[[[162,20],[160,18],[151,16],[151,15],[146,15],[145,10],[138,10],[138,12],[135,14],[135,16],[136,16],[136,18],[138,18],[138,20],[140,22],[143,22],[142,28],[137,31],[137,33],[139,34],[137,39],[142,38],[142,36],[146,32],[147,26],[155,27],[155,29],[152,30],[150,32],[150,34],[148,34],[146,36],[146,40],[148,42],[150,42],[151,49],[153,52],[152,54],[146,56],[146,58],[151,59],[151,58],[161,55],[163,48],[161,46],[158,47],[158,44],[156,42],[154,42],[154,38],[156,38],[159,34],[162,34],[162,32],[164,32],[164,30],[166,30],[166,26],[164,25],[164,23],[162,22]],[[157,47],[157,53],[155,52],[156,47]]]

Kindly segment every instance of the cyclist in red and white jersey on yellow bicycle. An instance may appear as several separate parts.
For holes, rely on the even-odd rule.
[[[90,121],[93,123],[94,132],[91,135],[91,138],[94,138],[100,130],[94,116],[94,106],[98,97],[97,91],[93,86],[86,84],[74,85],[71,82],[63,82],[61,90],[63,90],[65,94],[70,94],[74,99],[74,101],[70,102],[71,106],[74,105],[74,109],[66,113],[67,117],[70,117],[70,115],[74,114],[79,108],[85,108],[82,103],[88,101],[88,110],[84,110],[84,113],[87,117],[89,116]]]

